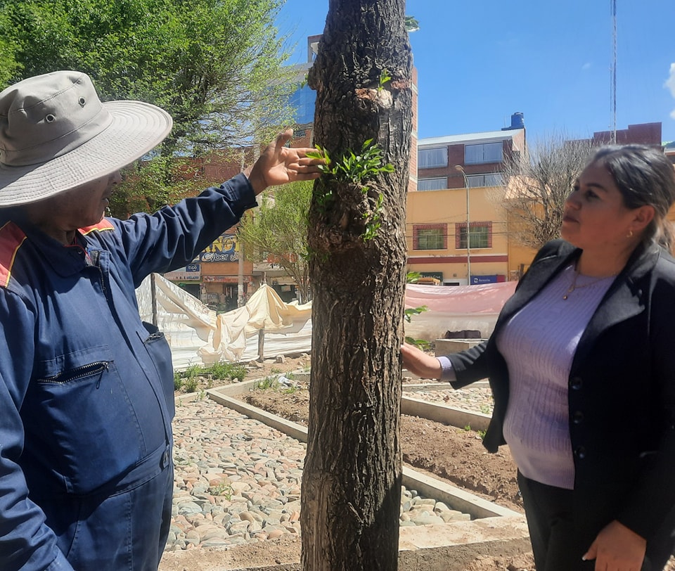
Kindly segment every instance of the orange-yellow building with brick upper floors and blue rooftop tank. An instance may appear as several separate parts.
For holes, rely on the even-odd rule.
[[[500,131],[419,140],[407,203],[409,271],[448,286],[506,281],[502,165],[524,152],[522,113]]]

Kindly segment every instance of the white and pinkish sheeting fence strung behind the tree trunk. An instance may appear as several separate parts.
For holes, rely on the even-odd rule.
[[[143,321],[153,321],[153,293],[157,325],[167,335],[174,367],[209,365],[216,361],[251,361],[258,355],[258,332],[264,329],[264,356],[299,354],[311,350],[311,302],[290,304],[274,289],[261,286],[245,307],[216,315],[212,309],[162,276],[147,278],[136,290]],[[428,311],[405,323],[405,333],[416,339],[443,338],[446,331],[494,329],[501,307],[515,290],[515,282],[483,286],[406,287],[406,308],[427,306]]]

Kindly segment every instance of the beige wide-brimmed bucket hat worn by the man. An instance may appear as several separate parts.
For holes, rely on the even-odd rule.
[[[32,203],[115,172],[169,134],[141,101],[101,103],[89,76],[57,71],[0,92],[0,207]]]

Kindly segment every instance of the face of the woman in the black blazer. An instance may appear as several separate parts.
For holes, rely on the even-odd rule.
[[[601,163],[591,163],[565,200],[560,234],[582,250],[624,248],[634,218],[612,175]]]

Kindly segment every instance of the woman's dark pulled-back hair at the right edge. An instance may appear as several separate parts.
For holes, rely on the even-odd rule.
[[[593,163],[612,175],[626,208],[654,207],[654,219],[643,239],[672,251],[674,235],[666,216],[675,203],[675,167],[663,151],[646,145],[604,146],[591,156],[589,165]]]

